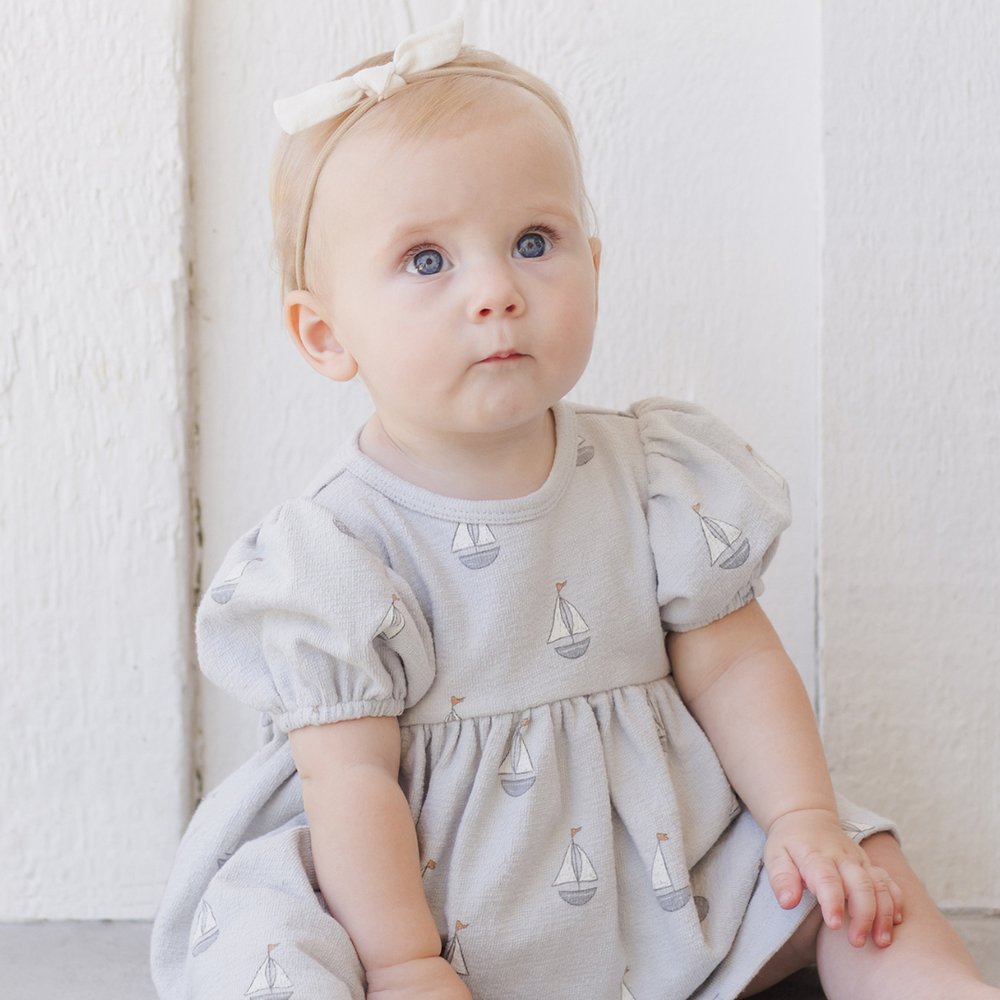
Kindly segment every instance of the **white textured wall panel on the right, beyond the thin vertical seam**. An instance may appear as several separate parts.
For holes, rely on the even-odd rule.
[[[825,5],[823,732],[1000,906],[1000,6]]]

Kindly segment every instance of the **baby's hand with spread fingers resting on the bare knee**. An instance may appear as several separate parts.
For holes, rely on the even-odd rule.
[[[841,830],[836,813],[799,809],[779,816],[768,831],[764,864],[784,909],[798,906],[805,883],[834,930],[843,926],[846,901],[848,940],[855,948],[864,946],[869,933],[880,948],[891,944],[893,925],[903,920],[903,894]]]

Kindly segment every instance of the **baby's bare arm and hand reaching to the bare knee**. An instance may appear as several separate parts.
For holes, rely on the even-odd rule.
[[[681,697],[733,787],[767,832],[764,861],[786,909],[802,883],[833,928],[850,913],[857,947],[879,946],[902,920],[902,895],[840,828],[833,785],[805,687],[756,601],[690,632],[667,651]]]

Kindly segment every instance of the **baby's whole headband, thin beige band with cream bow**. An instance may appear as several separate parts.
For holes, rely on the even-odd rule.
[[[428,80],[436,76],[486,76],[497,80],[506,80],[541,98],[563,121],[565,112],[553,103],[552,98],[533,87],[529,80],[512,76],[502,70],[489,69],[486,66],[461,65],[449,66],[462,48],[463,23],[460,17],[443,21],[433,28],[418,31],[404,38],[392,60],[381,66],[369,66],[359,70],[353,76],[332,80],[320,84],[296,97],[286,97],[274,102],[274,113],[278,123],[289,134],[294,135],[303,129],[318,125],[342,115],[345,111],[351,114],[337,126],[333,134],[326,140],[306,186],[306,196],[302,202],[299,215],[298,236],[295,241],[295,287],[306,287],[306,235],[309,231],[309,214],[312,211],[313,198],[316,193],[316,182],[319,180],[323,164],[340,140],[341,136],[367,111],[379,101],[401,90],[407,84],[419,80]],[[572,136],[572,127],[565,121]]]

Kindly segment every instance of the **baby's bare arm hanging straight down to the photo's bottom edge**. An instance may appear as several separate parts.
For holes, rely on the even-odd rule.
[[[366,718],[289,735],[313,861],[330,913],[351,937],[379,1000],[469,1000],[440,957],[416,831],[399,786],[399,724]]]

